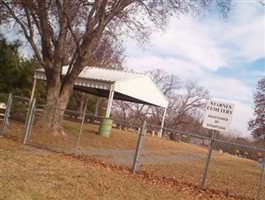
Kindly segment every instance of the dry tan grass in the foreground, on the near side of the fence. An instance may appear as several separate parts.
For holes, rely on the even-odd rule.
[[[84,162],[6,138],[0,142],[0,199],[194,199],[176,189],[139,181],[126,169]]]

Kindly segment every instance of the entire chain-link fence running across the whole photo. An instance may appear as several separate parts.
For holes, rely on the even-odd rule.
[[[8,104],[8,95],[0,99]],[[235,199],[264,198],[264,149],[223,141],[214,132],[205,137],[115,119],[111,136],[102,137],[99,129],[104,117],[71,110],[63,112],[63,135],[47,133],[39,126],[45,121],[44,111],[35,101],[14,96],[9,124],[1,134],[38,148],[129,167],[133,173],[222,191]],[[161,131],[163,137],[158,138]]]

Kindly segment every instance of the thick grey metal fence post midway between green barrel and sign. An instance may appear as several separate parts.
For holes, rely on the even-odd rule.
[[[132,173],[135,174],[135,172],[138,170],[139,166],[139,157],[141,155],[142,151],[142,144],[143,144],[143,139],[144,139],[144,133],[145,133],[145,126],[146,126],[146,121],[144,121],[140,134],[138,135],[138,142],[135,150],[135,155],[134,155],[134,160],[133,160],[133,167],[132,167]]]

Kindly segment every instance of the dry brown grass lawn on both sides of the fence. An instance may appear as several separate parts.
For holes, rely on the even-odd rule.
[[[214,151],[206,187],[201,188],[207,148],[146,136],[140,171],[132,175],[131,166],[108,163],[104,156],[69,155],[44,149],[135,150],[137,134],[112,129],[111,137],[106,138],[97,135],[97,125],[85,124],[76,148],[80,124],[65,121],[64,127],[65,137],[34,128],[29,145],[22,145],[23,126],[11,122],[7,138],[0,138],[0,199],[237,200],[256,197],[261,170],[255,161]],[[150,162],[150,155],[172,160]]]

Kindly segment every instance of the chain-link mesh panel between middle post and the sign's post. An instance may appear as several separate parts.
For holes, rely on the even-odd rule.
[[[200,185],[208,153],[208,147],[201,145],[203,138],[170,129],[163,133],[161,139],[152,135],[144,139],[140,169],[161,178]],[[168,139],[173,136],[174,140]]]

